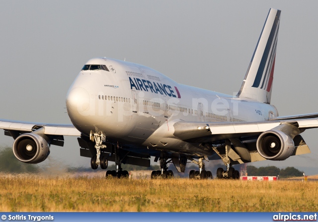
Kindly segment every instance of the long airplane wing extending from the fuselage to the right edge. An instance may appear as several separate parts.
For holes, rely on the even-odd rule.
[[[173,124],[173,135],[189,143],[208,143],[219,140],[258,136],[283,123],[298,127],[300,130],[318,128],[318,118],[269,120],[260,122],[188,122]]]

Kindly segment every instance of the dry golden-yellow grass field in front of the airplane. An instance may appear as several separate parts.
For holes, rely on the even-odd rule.
[[[1,212],[316,212],[318,182],[0,176]]]

